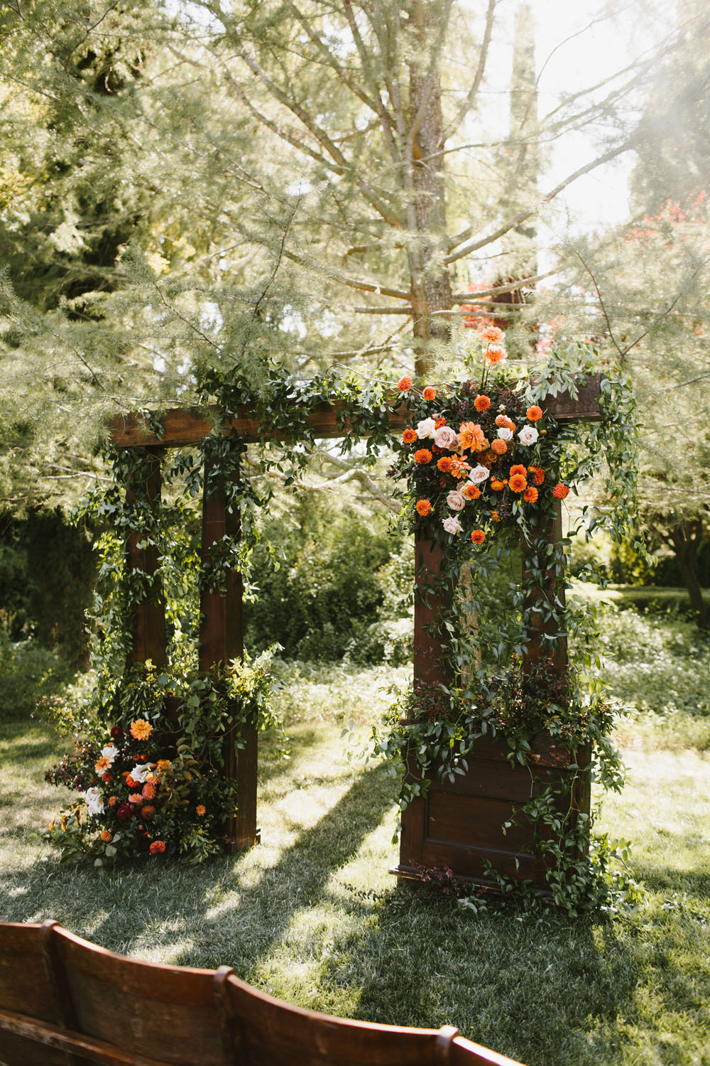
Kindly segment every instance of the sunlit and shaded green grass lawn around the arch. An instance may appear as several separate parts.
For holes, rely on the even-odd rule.
[[[633,841],[647,888],[639,914],[473,915],[411,891],[364,898],[393,887],[394,782],[344,759],[341,727],[376,715],[387,702],[378,690],[407,671],[287,669],[292,758],[278,763],[263,745],[263,843],[197,869],[62,866],[30,834],[62,798],[43,775],[64,742],[37,725],[3,726],[0,919],[51,917],[136,957],[228,964],[333,1014],[451,1022],[529,1066],[709,1066],[710,752],[707,731],[680,728],[682,707],[620,733],[628,786],[601,828]]]

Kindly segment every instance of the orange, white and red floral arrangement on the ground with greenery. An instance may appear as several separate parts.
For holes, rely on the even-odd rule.
[[[273,651],[234,662],[221,677],[158,674],[134,666],[115,685],[101,718],[87,718],[69,755],[46,779],[81,793],[50,824],[46,837],[63,857],[177,856],[200,862],[221,847],[234,812],[234,782],[215,774],[228,730],[252,721],[276,725],[269,671]],[[180,692],[179,696],[175,693]],[[65,724],[72,715],[62,708]]]

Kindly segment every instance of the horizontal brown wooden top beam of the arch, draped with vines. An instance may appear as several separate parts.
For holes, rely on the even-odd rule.
[[[585,386],[579,389],[579,394],[573,399],[568,393],[561,392],[557,397],[548,397],[545,410],[560,422],[598,421],[600,374],[591,374]],[[393,397],[394,399],[394,397]],[[343,411],[341,401],[318,404],[316,409],[307,416],[306,424],[318,439],[342,437],[343,427],[337,424],[339,415]],[[109,423],[111,441],[117,448],[139,448],[163,446],[180,448],[185,445],[199,443],[203,437],[213,432],[219,423],[219,407],[191,410],[185,407],[175,407],[161,416],[163,433],[159,437],[150,429],[148,419],[143,415],[122,415]],[[412,413],[403,405],[396,414],[391,413],[389,423],[391,430],[401,430],[411,424]],[[345,426],[349,423],[346,421]],[[283,433],[268,424],[264,424],[259,411],[253,407],[243,407],[235,418],[228,419],[224,425],[226,434],[235,432],[248,443],[257,440],[280,440]]]

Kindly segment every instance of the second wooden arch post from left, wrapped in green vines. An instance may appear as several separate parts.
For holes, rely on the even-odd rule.
[[[227,535],[232,539],[240,536],[240,513],[233,507],[227,510],[225,483],[216,473],[212,461],[205,459],[204,492],[202,500],[202,566],[209,570],[213,558],[213,546]],[[200,642],[199,668],[210,674],[221,663],[227,665],[232,659],[244,656],[244,632],[242,625],[242,575],[235,568],[227,571],[226,585],[220,588],[209,580],[200,593]],[[234,708],[236,711],[236,708]],[[244,747],[235,750],[234,743],[240,738]],[[224,776],[235,780],[236,813],[230,815],[226,824],[226,836],[234,851],[246,851],[259,842],[257,828],[257,761],[258,736],[253,725],[234,724],[225,738]]]

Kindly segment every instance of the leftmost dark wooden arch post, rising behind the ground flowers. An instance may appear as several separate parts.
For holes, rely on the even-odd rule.
[[[147,475],[146,498],[154,513],[161,500],[161,450],[146,449]],[[136,484],[129,483],[126,489],[128,503],[135,502]],[[143,570],[147,579],[146,597],[135,604],[133,613],[133,642],[127,657],[127,665],[144,663],[148,659],[160,669],[165,666],[165,600],[158,576],[158,545],[149,539],[150,531],[131,533],[127,544],[128,569]]]

